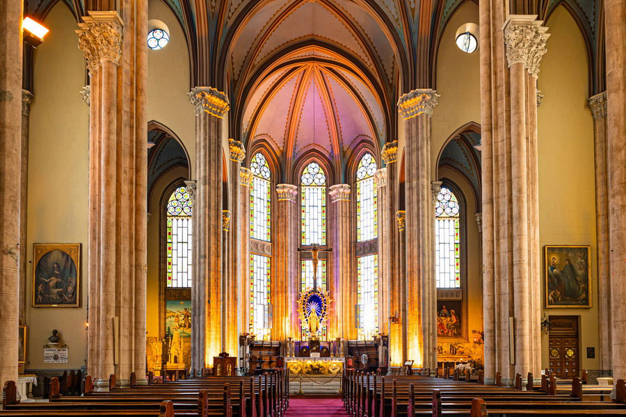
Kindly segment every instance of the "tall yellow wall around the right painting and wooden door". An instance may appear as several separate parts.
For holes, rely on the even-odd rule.
[[[546,26],[551,36],[540,64],[539,89],[545,97],[538,111],[542,270],[545,245],[591,245],[593,308],[543,311],[547,315],[581,317],[581,368],[597,370],[595,167],[593,118],[586,106],[586,49],[580,29],[563,6],[554,10]],[[543,368],[548,364],[547,341],[544,335]],[[586,359],[586,347],[595,347],[596,359]]]

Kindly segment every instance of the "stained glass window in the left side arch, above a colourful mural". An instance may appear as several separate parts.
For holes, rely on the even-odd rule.
[[[191,202],[186,188],[179,187],[167,206],[168,287],[191,288]]]

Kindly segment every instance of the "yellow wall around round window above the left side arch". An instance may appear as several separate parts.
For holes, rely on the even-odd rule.
[[[158,19],[170,30],[163,49],[148,49],[147,117],[171,129],[195,161],[195,115],[187,93],[191,90],[187,43],[178,19],[163,0],[148,2],[148,19]],[[193,163],[191,170],[195,170]]]

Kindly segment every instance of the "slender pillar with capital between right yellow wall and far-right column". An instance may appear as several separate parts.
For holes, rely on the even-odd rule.
[[[588,99],[595,142],[595,227],[597,235],[597,329],[600,371],[611,370],[611,252],[609,249],[609,186],[607,167],[607,92]]]

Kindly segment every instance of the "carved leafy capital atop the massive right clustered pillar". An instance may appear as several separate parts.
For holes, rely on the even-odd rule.
[[[548,28],[541,26],[543,20],[536,19],[537,15],[510,15],[502,26],[508,67],[521,63],[533,76],[539,74],[539,62],[550,37]]]

